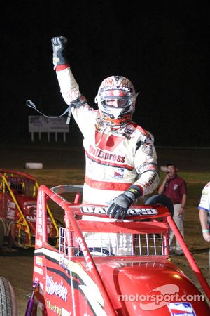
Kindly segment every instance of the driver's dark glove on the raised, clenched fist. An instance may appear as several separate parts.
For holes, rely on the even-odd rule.
[[[54,69],[57,65],[65,65],[67,64],[67,60],[65,57],[65,46],[67,43],[66,37],[52,37],[52,49],[53,49],[53,65]]]

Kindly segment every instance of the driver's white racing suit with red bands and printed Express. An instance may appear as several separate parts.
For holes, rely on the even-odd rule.
[[[56,70],[60,90],[66,103],[70,105],[78,98],[84,101],[85,98],[80,95],[70,67],[57,66]],[[77,102],[76,107],[71,108],[71,112],[84,137],[86,171],[83,203],[110,204],[111,200],[133,184],[141,189],[142,197],[155,190],[159,176],[151,133],[132,121],[120,127],[105,125],[100,119],[99,110],[93,110],[86,102]],[[93,218],[87,216],[88,220]],[[104,239],[108,234],[102,235]],[[124,251],[125,254],[129,254],[128,249],[132,241],[125,237],[123,243],[124,248],[127,249]],[[112,252],[116,252],[117,246],[119,244],[113,246],[112,243]]]

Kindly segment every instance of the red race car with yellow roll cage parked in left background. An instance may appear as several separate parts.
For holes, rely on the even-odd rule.
[[[0,249],[34,247],[37,181],[27,173],[0,169]],[[48,237],[57,244],[57,221],[47,206]]]

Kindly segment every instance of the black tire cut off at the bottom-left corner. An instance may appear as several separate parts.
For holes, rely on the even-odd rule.
[[[15,291],[5,277],[0,277],[0,316],[18,316]]]

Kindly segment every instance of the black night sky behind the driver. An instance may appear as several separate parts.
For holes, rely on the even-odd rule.
[[[68,59],[89,104],[101,81],[122,74],[137,91],[133,120],[155,145],[209,147],[208,1],[8,1],[1,8],[1,142],[30,140],[26,106],[66,104],[50,39],[69,39]],[[71,119],[68,143],[81,136]]]

